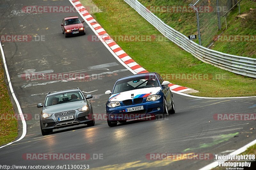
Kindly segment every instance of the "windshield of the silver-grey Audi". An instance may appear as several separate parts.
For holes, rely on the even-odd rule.
[[[62,104],[79,100],[84,100],[83,95],[80,91],[59,93],[56,95],[48,96],[45,100],[45,106],[52,106],[55,104]]]

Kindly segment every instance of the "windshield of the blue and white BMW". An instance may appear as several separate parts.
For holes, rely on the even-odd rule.
[[[156,76],[150,76],[150,78],[141,76],[116,82],[113,93],[121,93],[124,91],[130,91],[135,89],[144,89],[150,87],[159,87]]]

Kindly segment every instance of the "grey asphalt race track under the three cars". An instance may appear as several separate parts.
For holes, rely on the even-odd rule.
[[[132,74],[94,35],[65,38],[60,23],[78,13],[22,13],[23,6],[70,6],[68,0],[1,0],[1,35],[44,35],[45,41],[3,42],[4,54],[14,92],[22,112],[40,113],[48,91],[79,87],[90,92],[94,113],[105,113],[115,81]],[[81,18],[80,18],[81,19]],[[24,73],[86,73],[101,75],[92,81],[24,80]],[[88,93],[89,94],[89,93]],[[198,99],[174,94],[176,114],[168,120],[131,121],[109,128],[96,120],[92,128],[74,126],[42,136],[38,119],[27,120],[27,135],[21,141],[0,149],[1,165],[89,165],[91,168],[199,169],[213,160],[148,160],[148,153],[230,153],[255,140],[255,121],[214,120],[216,113],[255,113],[255,98]],[[1,99],[2,100],[2,99]],[[17,110],[16,110],[17,111]],[[21,127],[19,127],[21,129]],[[19,135],[21,132],[19,133]],[[248,136],[248,137],[247,137]],[[26,160],[26,153],[103,154],[100,160]]]

